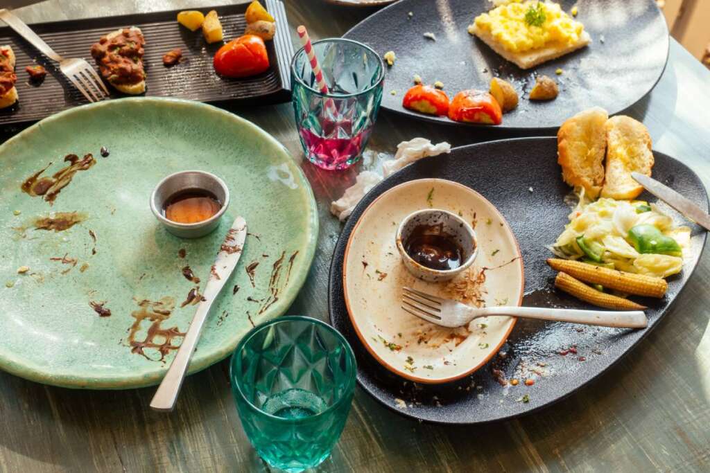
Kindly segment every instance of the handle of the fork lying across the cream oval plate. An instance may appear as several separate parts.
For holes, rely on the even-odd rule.
[[[574,308],[498,306],[476,309],[481,316],[515,316],[543,321],[584,323],[602,327],[644,328],[648,319],[643,311],[582,311]]]

